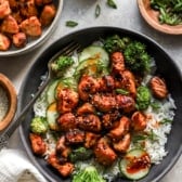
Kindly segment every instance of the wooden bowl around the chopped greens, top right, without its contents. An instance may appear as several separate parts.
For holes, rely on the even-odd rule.
[[[169,35],[182,35],[182,25],[170,26],[160,24],[158,21],[158,11],[151,9],[150,0],[138,0],[138,5],[143,18],[156,30]]]

